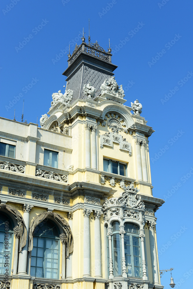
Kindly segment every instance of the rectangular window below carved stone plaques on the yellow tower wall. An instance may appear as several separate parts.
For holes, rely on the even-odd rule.
[[[114,160],[103,159],[103,171],[126,177],[126,164]]]

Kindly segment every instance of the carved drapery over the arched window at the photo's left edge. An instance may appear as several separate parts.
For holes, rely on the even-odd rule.
[[[19,252],[21,252],[22,248],[26,244],[26,239],[27,239],[27,228],[25,226],[25,222],[23,220],[23,217],[18,212],[18,210],[11,207],[10,205],[0,204],[0,208],[7,210],[13,216],[13,218],[16,220],[17,224],[19,225],[20,236],[21,236],[20,240],[19,240]]]

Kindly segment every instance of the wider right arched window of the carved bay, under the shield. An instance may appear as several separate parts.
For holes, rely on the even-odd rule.
[[[132,223],[125,223],[125,231],[124,248],[127,275],[142,277],[139,228]]]

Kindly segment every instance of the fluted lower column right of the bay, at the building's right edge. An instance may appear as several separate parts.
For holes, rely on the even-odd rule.
[[[153,231],[155,225],[156,225],[155,222],[149,222],[149,240],[150,240],[150,254],[151,254],[153,283],[159,284],[157,254],[156,254],[155,238],[154,238],[154,231]]]

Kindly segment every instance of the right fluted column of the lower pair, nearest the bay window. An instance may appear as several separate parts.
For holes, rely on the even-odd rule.
[[[101,278],[101,245],[100,245],[100,217],[102,212],[95,211],[95,278]]]

